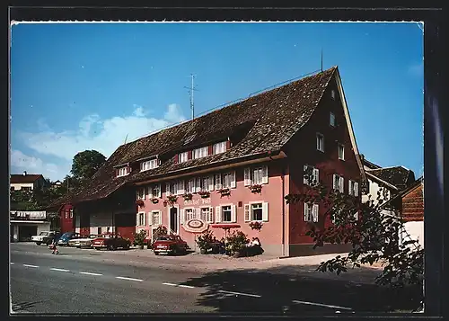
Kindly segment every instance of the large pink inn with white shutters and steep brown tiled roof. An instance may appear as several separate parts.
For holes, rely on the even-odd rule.
[[[285,200],[305,191],[308,173],[355,196],[365,180],[337,67],[122,145],[82,191],[58,203],[74,205],[80,232],[152,236],[164,225],[195,248],[205,228],[217,238],[237,228],[258,236],[267,254],[312,254],[305,233],[331,224],[327,208]],[[251,221],[263,223],[260,232]]]

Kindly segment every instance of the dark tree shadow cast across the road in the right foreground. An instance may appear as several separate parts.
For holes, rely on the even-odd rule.
[[[202,277],[189,279],[183,284],[206,288],[199,296],[198,305],[213,307],[222,313],[335,314],[336,311],[411,311],[419,307],[422,290],[420,287],[392,290],[374,284],[313,277],[313,273],[321,272],[310,273],[307,277],[282,274],[288,272],[288,269],[291,268],[283,266],[268,270],[210,272]],[[226,291],[261,297],[235,295]],[[295,303],[294,300],[302,302]]]

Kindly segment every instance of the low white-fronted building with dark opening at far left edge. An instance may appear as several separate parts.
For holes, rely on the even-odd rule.
[[[42,231],[50,230],[46,211],[11,210],[10,212],[10,240],[11,242],[31,241]]]

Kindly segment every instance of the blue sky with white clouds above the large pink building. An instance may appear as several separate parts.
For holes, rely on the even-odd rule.
[[[129,142],[271,85],[339,67],[357,147],[423,174],[417,22],[43,23],[11,34],[11,173],[69,174]]]

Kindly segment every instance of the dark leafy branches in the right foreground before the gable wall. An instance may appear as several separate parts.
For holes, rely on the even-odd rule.
[[[422,284],[424,249],[417,240],[400,242],[403,220],[381,209],[384,201],[381,192],[376,200],[377,203],[370,197],[362,203],[359,197],[328,190],[321,183],[308,186],[304,192],[286,195],[287,203],[321,202],[327,208],[325,217],[333,224],[318,228],[311,224],[306,233],[313,237],[313,248],[326,243],[352,245],[348,255],[321,262],[317,271],[339,274],[348,271],[349,266],[380,262],[383,272],[376,283],[392,287]]]

